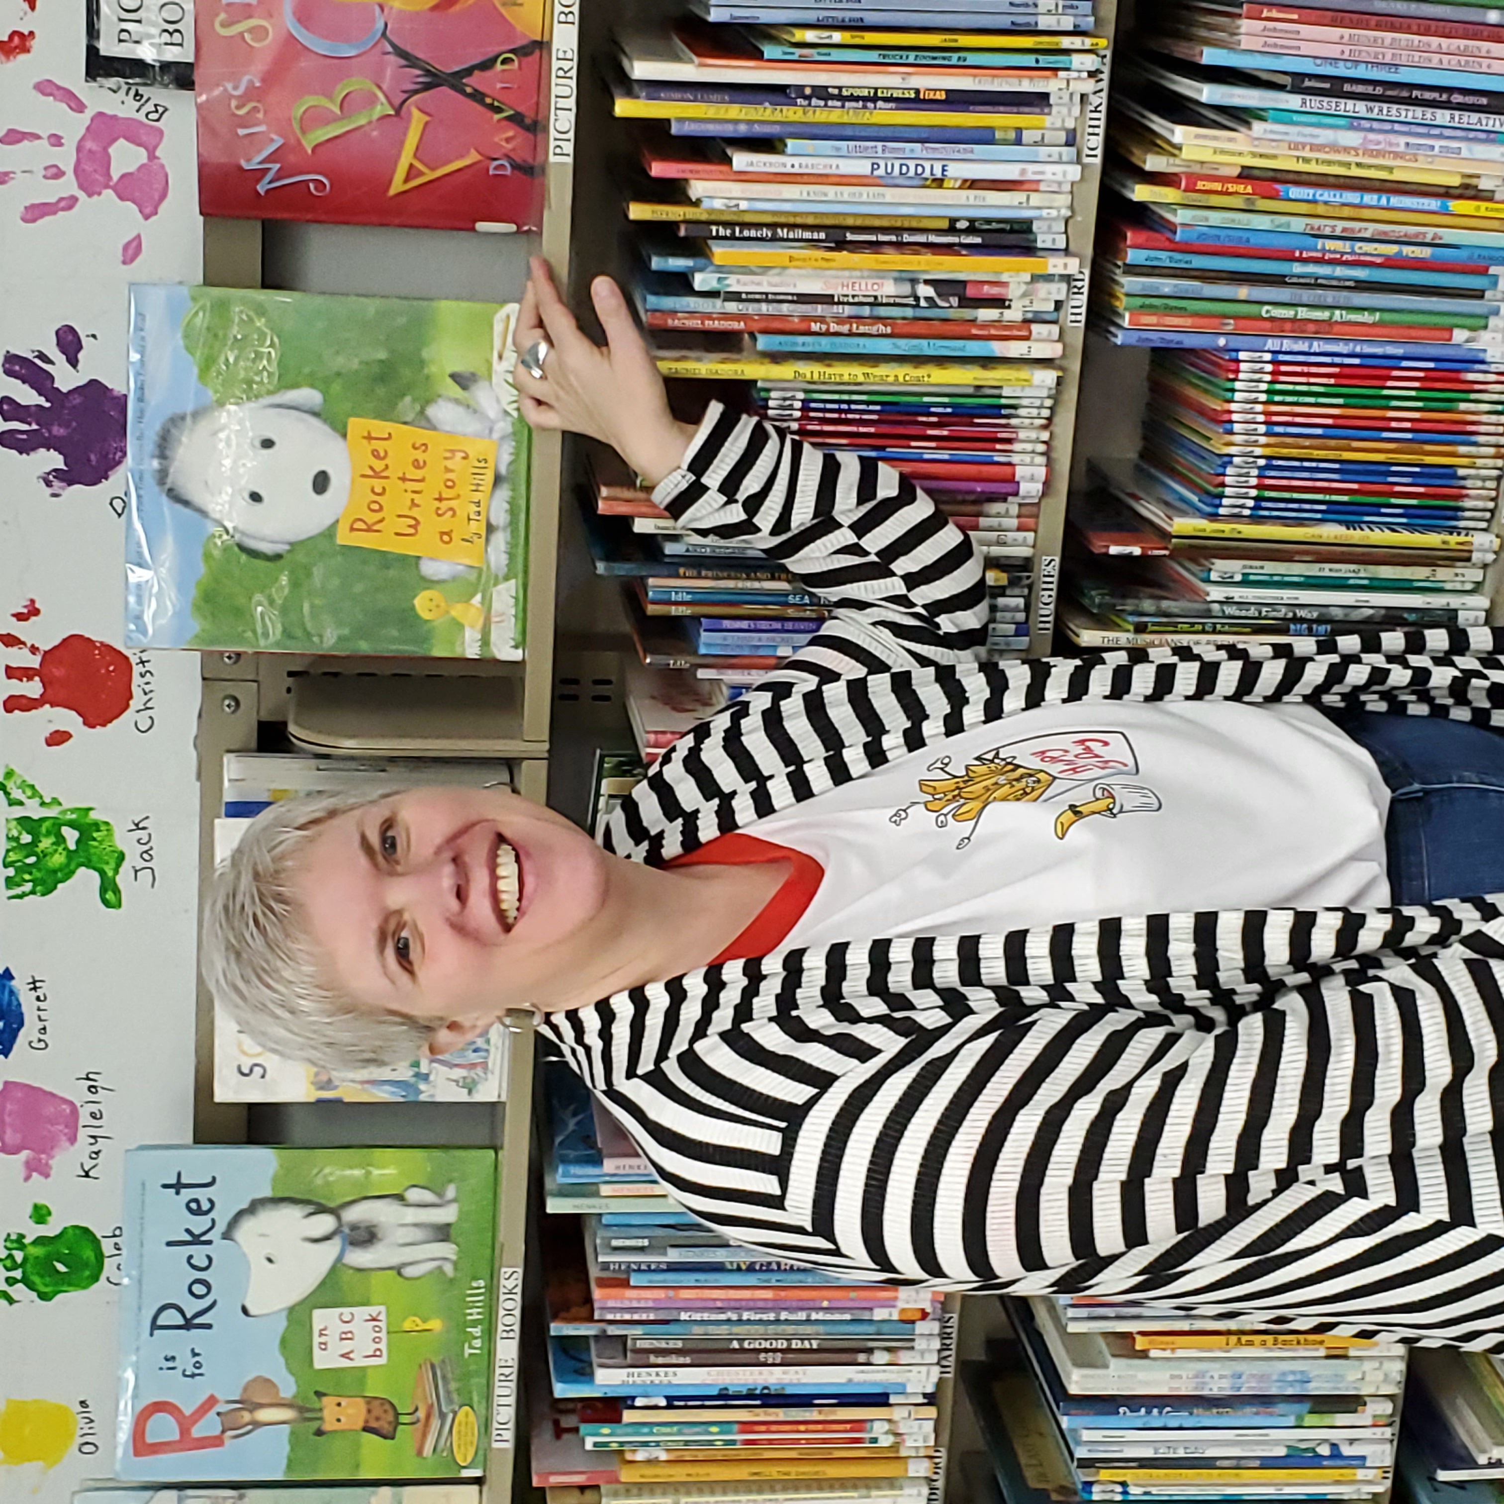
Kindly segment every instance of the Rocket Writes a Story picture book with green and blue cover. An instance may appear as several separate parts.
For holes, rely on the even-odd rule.
[[[514,319],[132,287],[126,639],[520,659]]]

